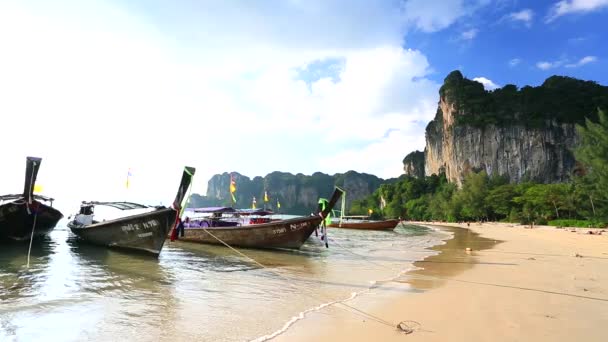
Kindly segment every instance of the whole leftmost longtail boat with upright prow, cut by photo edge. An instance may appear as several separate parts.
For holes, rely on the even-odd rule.
[[[0,240],[27,241],[47,235],[63,217],[53,208],[52,198],[34,195],[41,162],[41,158],[27,157],[23,194],[0,196]]]

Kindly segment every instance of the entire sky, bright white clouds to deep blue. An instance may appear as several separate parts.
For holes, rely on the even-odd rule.
[[[226,171],[397,177],[449,72],[608,84],[607,19],[608,0],[0,0],[0,193],[26,156],[64,203],[167,204],[185,165],[199,193]]]

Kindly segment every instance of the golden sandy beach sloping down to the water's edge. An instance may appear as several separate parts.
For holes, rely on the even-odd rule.
[[[308,314],[275,340],[606,340],[608,233],[499,223],[442,226],[454,238],[434,247],[440,254],[416,263],[422,270],[347,302],[384,323],[334,306]],[[401,321],[413,321],[408,326],[414,331],[393,327]]]

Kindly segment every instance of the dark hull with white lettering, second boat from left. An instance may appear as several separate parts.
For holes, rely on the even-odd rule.
[[[158,256],[176,218],[176,210],[163,208],[87,226],[75,225],[72,221],[68,227],[76,236],[95,245],[143,251]]]

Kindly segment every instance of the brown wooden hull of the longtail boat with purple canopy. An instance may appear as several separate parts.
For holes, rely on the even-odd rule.
[[[179,240],[223,245],[219,239],[237,247],[299,249],[320,223],[320,216],[310,216],[239,227],[186,228]]]

